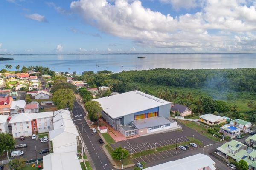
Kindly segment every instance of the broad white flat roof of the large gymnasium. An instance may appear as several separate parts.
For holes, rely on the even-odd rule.
[[[171,103],[137,90],[93,100],[113,119]]]

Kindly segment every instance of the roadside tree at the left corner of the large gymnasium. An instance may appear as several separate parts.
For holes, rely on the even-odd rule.
[[[99,102],[96,101],[88,101],[85,103],[85,109],[88,112],[89,118],[92,121],[98,120],[98,116],[102,111],[102,107]]]

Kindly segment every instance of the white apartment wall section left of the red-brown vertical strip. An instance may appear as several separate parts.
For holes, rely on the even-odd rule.
[[[29,128],[27,128],[29,127]],[[16,125],[12,123],[12,135],[14,138],[18,138],[22,135],[32,136],[32,127],[31,121],[27,122],[18,122]]]

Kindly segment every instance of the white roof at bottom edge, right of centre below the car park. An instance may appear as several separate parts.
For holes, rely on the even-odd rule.
[[[214,165],[215,162],[209,156],[199,153],[176,161],[148,167],[144,170],[199,170],[204,167],[209,167],[208,170],[216,170]]]

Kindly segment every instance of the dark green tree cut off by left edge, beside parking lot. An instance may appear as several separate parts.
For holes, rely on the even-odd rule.
[[[0,133],[0,155],[5,150],[13,149],[15,140],[8,133]]]

